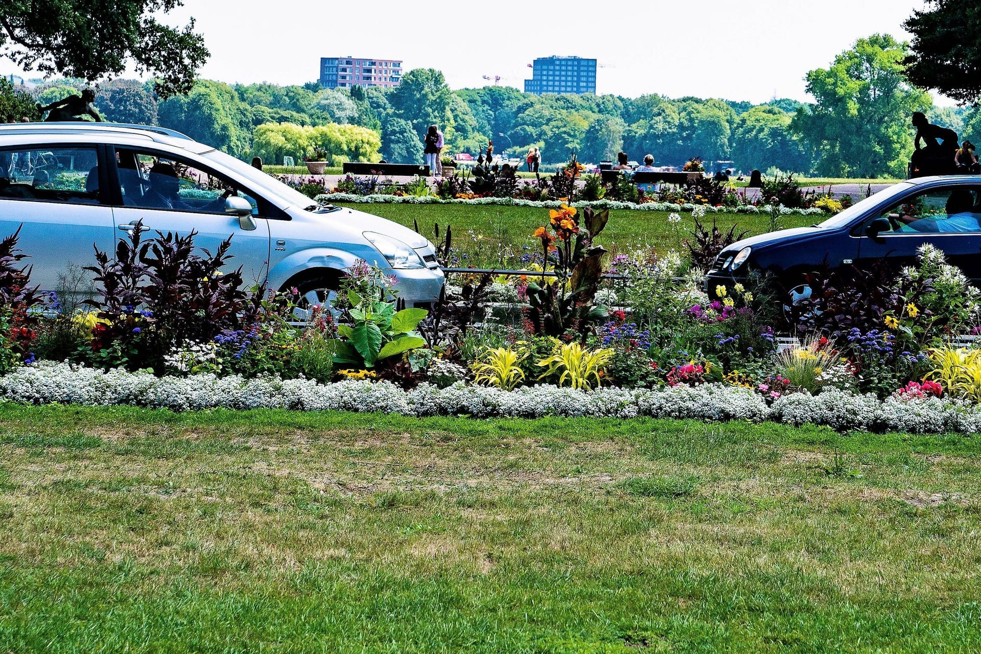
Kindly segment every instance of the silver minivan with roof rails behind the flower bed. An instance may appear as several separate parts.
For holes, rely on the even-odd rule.
[[[141,222],[141,223],[140,223]],[[31,281],[54,290],[93,245],[143,229],[187,233],[212,252],[232,235],[246,284],[296,287],[321,304],[359,260],[394,277],[409,307],[439,297],[433,243],[386,219],[323,206],[180,132],[106,123],[0,125],[0,237],[21,226]]]

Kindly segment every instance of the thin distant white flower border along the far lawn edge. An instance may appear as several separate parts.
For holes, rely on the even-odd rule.
[[[387,193],[375,193],[373,195],[354,195],[353,193],[324,193],[315,198],[317,202],[350,202],[353,204],[463,204],[463,205],[496,205],[502,207],[534,207],[536,209],[554,209],[561,206],[558,200],[525,200],[522,198],[509,197],[481,197],[465,200],[462,198],[443,199],[435,195],[389,195]],[[770,213],[769,205],[754,206],[740,205],[739,207],[712,207],[705,204],[672,204],[670,202],[617,202],[615,200],[581,200],[573,202],[574,207],[593,207],[594,209],[629,209],[631,211],[662,211],[662,212],[686,212],[690,213],[696,207],[704,208],[706,213],[715,214],[766,214]],[[789,209],[780,208],[782,216],[831,216],[823,209],[812,207],[810,209]]]

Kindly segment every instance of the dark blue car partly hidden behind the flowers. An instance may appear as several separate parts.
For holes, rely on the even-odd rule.
[[[827,266],[911,265],[932,243],[981,284],[981,177],[920,177],[862,200],[824,223],[783,229],[733,243],[708,271],[706,289],[772,274],[794,299],[809,295],[803,276]],[[711,292],[711,291],[709,291]]]

